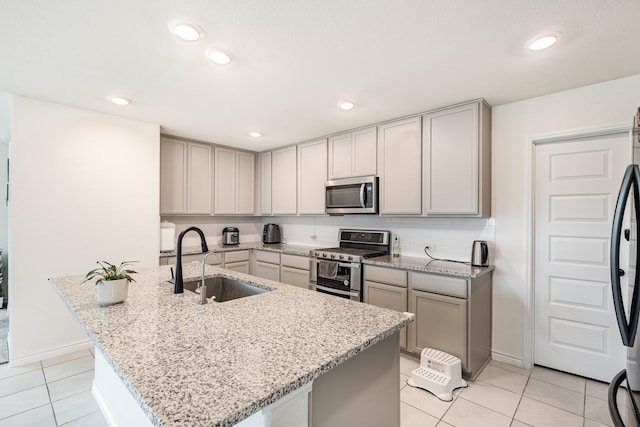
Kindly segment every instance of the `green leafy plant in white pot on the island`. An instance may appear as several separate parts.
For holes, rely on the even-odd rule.
[[[135,262],[137,261],[125,261],[116,267],[107,261],[98,261],[100,267],[88,272],[82,283],[97,277],[98,304],[117,304],[127,298],[129,282],[135,282],[131,275],[137,272],[126,268]]]

